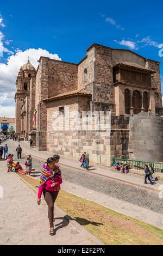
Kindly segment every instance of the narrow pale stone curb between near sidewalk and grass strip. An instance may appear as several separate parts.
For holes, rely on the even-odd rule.
[[[17,174],[17,173],[16,173]],[[18,178],[20,180],[22,180],[28,187],[30,187],[30,189],[32,191],[34,191],[35,193],[37,193],[37,190],[30,185],[26,180],[22,179],[20,175],[18,175]],[[34,179],[33,177],[31,177],[31,179]],[[104,245],[101,241],[99,241],[97,239],[97,237],[93,236],[91,233],[89,233],[84,227],[82,227],[82,225],[80,225],[78,222],[76,222],[75,220],[73,220],[73,218],[71,218],[69,215],[66,214],[65,211],[61,210],[60,208],[58,208],[57,205],[55,205],[55,208],[60,212],[61,215],[65,216],[67,221],[71,221],[71,224],[73,224],[78,230],[80,230],[81,233],[83,233],[87,239],[91,240],[91,242],[93,242],[93,245]]]

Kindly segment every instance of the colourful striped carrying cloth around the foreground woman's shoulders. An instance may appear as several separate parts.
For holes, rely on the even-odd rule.
[[[61,170],[59,166],[55,166],[53,170],[50,170],[47,167],[47,164],[43,164],[43,168],[41,170],[41,175],[40,175],[40,184],[39,187],[42,186],[49,178],[52,178],[54,176],[59,176],[61,177]]]

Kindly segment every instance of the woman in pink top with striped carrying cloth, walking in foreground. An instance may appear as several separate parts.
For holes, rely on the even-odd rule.
[[[37,196],[37,204],[41,203],[41,194],[43,192],[43,196],[48,205],[48,218],[50,224],[50,235],[55,235],[54,231],[54,203],[58,196],[58,189],[62,183],[61,172],[58,171],[58,168],[55,168],[55,163],[57,158],[49,157],[46,161],[46,164],[43,165],[42,172],[40,175],[40,185]]]

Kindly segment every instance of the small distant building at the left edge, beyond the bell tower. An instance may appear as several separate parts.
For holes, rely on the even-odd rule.
[[[0,117],[0,132],[7,135],[10,131],[15,131],[15,118]]]

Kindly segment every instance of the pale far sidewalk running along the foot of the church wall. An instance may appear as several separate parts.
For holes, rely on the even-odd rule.
[[[18,142],[14,142],[16,145]],[[54,153],[51,153],[50,151],[37,151],[36,148],[29,148],[29,143],[21,141],[20,142],[23,153],[31,154],[34,157],[37,157],[39,159],[47,160],[49,156],[52,156]],[[130,185],[135,185],[143,188],[147,188],[152,191],[159,192],[160,185],[163,184],[163,181],[157,181],[154,186],[151,186],[151,184],[145,185],[144,182],[144,176],[128,173],[128,174],[121,174],[117,170],[115,170],[113,167],[105,167],[105,166],[99,166],[98,164],[91,164],[91,168],[89,171],[85,170],[84,168],[80,168],[80,163],[76,159],[71,159],[70,157],[62,156],[60,155],[60,165],[64,165],[67,167],[71,167],[74,169],[80,169],[83,170],[83,172],[89,172],[97,175],[106,176],[110,179],[126,182]],[[93,166],[92,166],[93,165]]]

